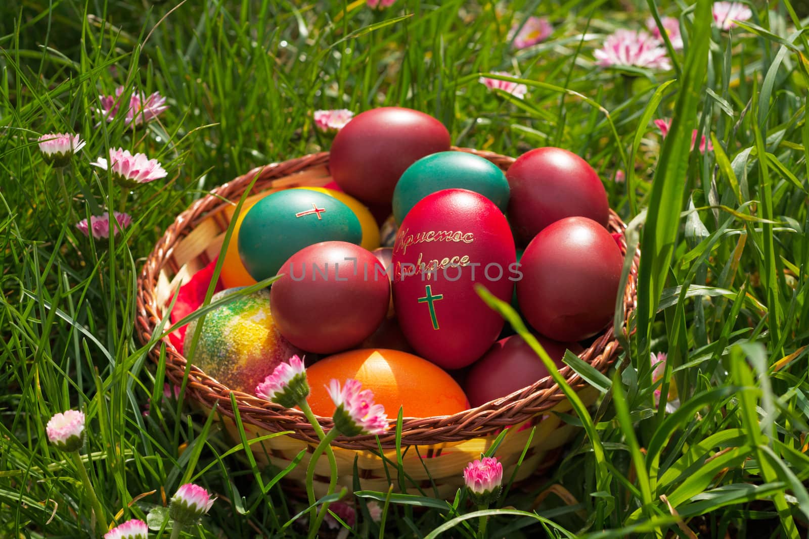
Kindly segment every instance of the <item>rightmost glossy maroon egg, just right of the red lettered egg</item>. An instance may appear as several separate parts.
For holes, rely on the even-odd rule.
[[[612,320],[624,259],[612,235],[587,217],[565,217],[525,248],[517,281],[523,316],[562,342],[595,335]]]

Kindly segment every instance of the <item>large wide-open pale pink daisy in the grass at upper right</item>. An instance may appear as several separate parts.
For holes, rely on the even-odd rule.
[[[629,66],[671,69],[666,48],[646,32],[621,28],[607,36],[604,46],[595,51],[596,64],[603,67]]]

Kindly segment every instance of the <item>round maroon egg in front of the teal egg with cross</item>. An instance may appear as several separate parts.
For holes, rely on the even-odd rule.
[[[278,331],[307,352],[354,347],[388,312],[390,280],[371,251],[348,242],[320,242],[288,259],[270,288]]]

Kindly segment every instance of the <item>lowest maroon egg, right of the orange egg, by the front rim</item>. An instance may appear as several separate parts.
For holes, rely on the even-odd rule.
[[[582,352],[578,343],[559,343],[542,335],[535,336],[557,368],[564,366],[561,360],[565,357],[565,349],[577,355]],[[472,406],[481,406],[522,390],[546,376],[549,376],[548,369],[540,356],[521,336],[511,335],[498,340],[485,356],[472,364],[464,381],[464,391]]]

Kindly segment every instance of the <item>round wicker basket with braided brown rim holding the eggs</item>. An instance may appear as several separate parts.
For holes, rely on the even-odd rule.
[[[480,155],[506,170],[514,158],[473,149],[455,148],[460,151]],[[299,186],[323,186],[331,181],[328,172],[328,153],[311,154],[302,158],[273,163],[239,176],[230,183],[214,189],[210,195],[197,200],[169,226],[151,252],[138,281],[138,335],[143,343],[149,341],[160,320],[165,314],[172,291],[180,283],[193,276],[218,255],[225,231],[234,212],[233,200],[239,200],[255,175],[259,175],[253,187],[255,195],[267,190],[280,190]],[[230,202],[229,202],[230,201]],[[625,225],[611,212],[609,228],[620,232]],[[625,251],[625,243],[621,245]],[[629,283],[624,291],[625,319],[636,302],[637,280],[636,253]],[[166,375],[169,380],[180,384],[186,366],[185,358],[175,347],[166,342]],[[618,342],[612,328],[599,335],[579,357],[599,371],[605,373],[616,359]],[[159,356],[158,347],[151,352],[155,360]],[[579,392],[582,400],[590,405],[595,402],[596,392],[582,381],[572,369],[561,369],[565,380]],[[308,453],[317,444],[316,434],[303,414],[287,410],[257,398],[251,394],[229,390],[218,381],[205,375],[200,369],[191,367],[185,398],[210,410],[218,403],[218,412],[223,418],[228,432],[235,436],[231,394],[239,406],[239,415],[248,436],[263,436],[269,432],[292,431],[294,434],[276,436],[272,439],[252,444],[256,460],[280,468],[286,467],[303,448],[307,455],[286,477],[303,482]],[[502,440],[496,455],[502,461],[505,477],[509,478],[523,449],[528,444],[532,429],[534,436],[527,448],[516,480],[545,470],[553,465],[557,454],[576,429],[565,424],[553,411],[570,411],[570,403],[550,377],[537,381],[523,390],[505,398],[488,402],[450,416],[429,418],[404,418],[400,448],[404,484],[408,491],[421,491],[425,495],[447,498],[463,486],[464,466],[480,457],[491,446],[504,427],[513,427]],[[320,424],[332,427],[331,418],[320,418]],[[392,424],[395,427],[395,424]],[[379,437],[383,449],[375,436],[354,439],[342,437],[334,441],[335,457],[338,466],[338,482],[352,490],[354,481],[354,461],[357,460],[359,483],[363,489],[388,491],[392,483],[399,490],[400,478],[397,475],[396,436],[392,428],[389,434]],[[383,460],[384,459],[384,460]],[[328,461],[318,461],[316,470],[316,492],[323,495],[328,486]],[[388,479],[390,478],[390,479]]]

